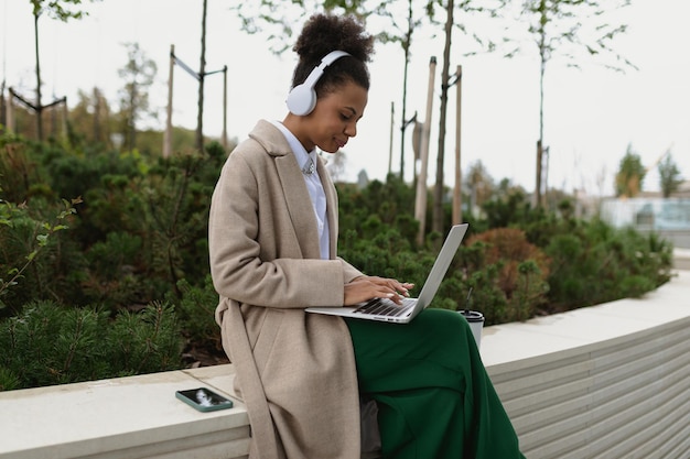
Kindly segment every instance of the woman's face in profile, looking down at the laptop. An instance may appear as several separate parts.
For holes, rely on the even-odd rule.
[[[302,118],[298,139],[308,151],[315,145],[324,152],[337,152],[349,138],[357,135],[357,121],[364,114],[367,100],[367,90],[352,81],[323,95],[314,111]]]

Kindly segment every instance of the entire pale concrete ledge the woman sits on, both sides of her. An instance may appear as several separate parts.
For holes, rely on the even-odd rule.
[[[529,459],[690,457],[690,272],[643,299],[484,329],[482,358]],[[0,392],[0,459],[246,458],[218,365]],[[174,392],[235,398],[198,413]]]

